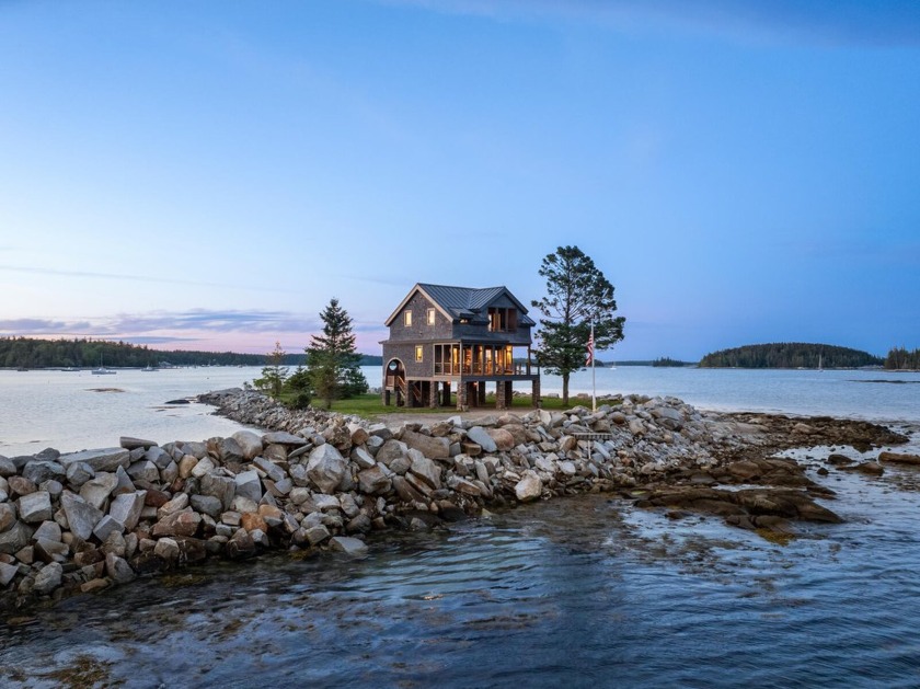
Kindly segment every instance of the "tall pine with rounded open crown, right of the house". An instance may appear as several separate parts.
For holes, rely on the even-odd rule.
[[[562,402],[568,404],[568,377],[585,366],[591,321],[595,356],[623,338],[623,317],[613,317],[613,285],[577,246],[560,246],[540,265],[547,297],[533,300],[540,319],[537,361],[562,377]]]

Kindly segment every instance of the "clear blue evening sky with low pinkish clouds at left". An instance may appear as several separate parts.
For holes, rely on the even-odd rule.
[[[377,354],[576,244],[601,358],[920,347],[912,0],[0,0],[0,335]]]

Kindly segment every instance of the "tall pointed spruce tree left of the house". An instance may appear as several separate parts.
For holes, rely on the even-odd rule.
[[[335,400],[367,392],[368,386],[358,367],[361,355],[355,352],[352,318],[338,306],[338,299],[330,299],[320,318],[323,334],[310,338],[306,370],[314,395],[329,409]]]

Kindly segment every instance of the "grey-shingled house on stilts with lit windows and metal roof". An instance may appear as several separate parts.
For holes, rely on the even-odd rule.
[[[540,371],[531,364],[536,323],[507,287],[417,284],[386,325],[383,403],[405,406],[485,404],[495,383],[495,407],[511,405],[515,382],[530,382],[540,399]]]

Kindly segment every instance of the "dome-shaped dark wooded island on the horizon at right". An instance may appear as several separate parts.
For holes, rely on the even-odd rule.
[[[825,344],[780,342],[746,345],[705,355],[701,368],[859,368],[882,366],[881,357]]]

